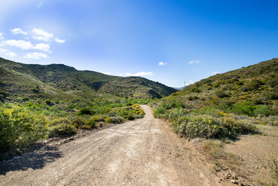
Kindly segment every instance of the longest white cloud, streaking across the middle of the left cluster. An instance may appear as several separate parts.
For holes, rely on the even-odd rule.
[[[43,52],[52,53],[51,50],[49,49],[50,48],[49,44],[39,43],[34,46],[31,44],[30,41],[25,41],[25,40],[5,40],[2,42],[13,47],[19,47],[21,49],[39,49],[42,50]]]

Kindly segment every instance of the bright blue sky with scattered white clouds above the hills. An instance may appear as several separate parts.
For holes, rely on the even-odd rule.
[[[10,0],[0,56],[167,86],[278,57],[278,1]]]

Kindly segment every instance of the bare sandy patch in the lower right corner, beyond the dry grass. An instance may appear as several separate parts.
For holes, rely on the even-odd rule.
[[[245,184],[266,185],[274,182],[270,177],[270,155],[278,155],[278,138],[275,136],[240,135],[233,144],[225,146],[227,153],[240,158],[238,170],[234,170]],[[263,164],[266,166],[263,166]]]

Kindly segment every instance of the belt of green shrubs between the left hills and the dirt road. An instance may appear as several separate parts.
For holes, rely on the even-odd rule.
[[[142,118],[139,104],[148,100],[30,100],[17,98],[0,106],[0,153],[24,148],[38,139],[76,134]]]

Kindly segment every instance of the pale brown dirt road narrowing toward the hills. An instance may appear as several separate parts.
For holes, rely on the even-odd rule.
[[[0,168],[0,185],[220,185],[170,127],[145,117]]]

